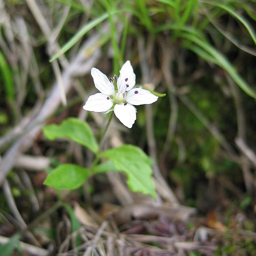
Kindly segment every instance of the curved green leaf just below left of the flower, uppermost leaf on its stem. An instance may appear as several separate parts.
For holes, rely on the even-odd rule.
[[[90,126],[78,118],[68,118],[60,125],[47,125],[43,131],[45,137],[49,140],[66,138],[89,148],[93,153],[97,153],[99,150]]]

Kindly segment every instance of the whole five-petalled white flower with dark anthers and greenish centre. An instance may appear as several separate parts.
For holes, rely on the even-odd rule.
[[[114,105],[116,117],[129,128],[136,120],[136,108],[133,105],[151,104],[158,99],[157,96],[147,90],[133,88],[135,74],[129,60],[124,63],[120,70],[120,76],[117,79],[117,91],[115,91],[113,80],[110,82],[99,69],[92,68],[91,75],[95,87],[100,92],[91,95],[83,108],[89,111],[104,112]]]

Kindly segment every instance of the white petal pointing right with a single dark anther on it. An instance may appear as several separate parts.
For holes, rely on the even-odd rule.
[[[157,101],[158,97],[148,90],[134,88],[127,92],[125,100],[132,105],[138,106],[143,104],[151,104]]]

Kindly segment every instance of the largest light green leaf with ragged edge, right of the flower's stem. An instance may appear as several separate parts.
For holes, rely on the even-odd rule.
[[[127,175],[127,184],[134,192],[149,194],[156,198],[156,191],[151,180],[153,174],[149,157],[138,147],[124,145],[101,153],[110,159],[117,169]]]

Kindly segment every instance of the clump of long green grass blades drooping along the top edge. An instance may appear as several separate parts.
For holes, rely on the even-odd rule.
[[[50,61],[53,61],[60,57],[60,55],[66,53],[71,47],[73,47],[81,38],[83,38],[90,30],[97,26],[101,26],[102,22],[106,19],[110,24],[110,41],[111,46],[114,51],[113,55],[113,73],[118,74],[119,68],[122,66],[124,61],[126,38],[129,37],[130,31],[131,35],[139,35],[141,30],[145,28],[148,33],[153,37],[157,38],[157,35],[162,34],[162,31],[170,31],[174,43],[183,39],[181,48],[193,51],[197,54],[198,58],[202,58],[208,62],[218,65],[223,70],[225,70],[236,82],[236,84],[241,87],[241,89],[253,98],[256,98],[255,91],[252,87],[239,75],[236,68],[229,62],[228,58],[223,55],[219,49],[212,45],[207,39],[205,32],[208,33],[210,25],[209,17],[205,16],[202,10],[207,9],[209,6],[211,19],[218,19],[218,17],[223,17],[223,15],[231,15],[242,26],[248,31],[254,43],[256,43],[256,36],[251,23],[236,10],[235,6],[229,6],[227,4],[221,4],[219,2],[202,2],[199,3],[197,0],[189,1],[153,1],[150,2],[152,5],[156,2],[158,5],[162,5],[163,9],[157,10],[167,10],[169,13],[169,21],[162,22],[161,24],[154,25],[154,15],[150,15],[149,10],[153,8],[150,3],[145,3],[142,0],[136,0],[132,3],[126,3],[125,1],[103,1],[101,0],[101,6],[105,9],[105,13],[93,18],[90,22],[86,23],[77,33],[69,39],[69,41],[62,46],[61,50],[53,56]],[[214,6],[212,10],[212,6]],[[243,5],[246,9],[246,5]],[[162,12],[161,11],[161,12]],[[94,12],[96,12],[94,10]],[[121,15],[119,15],[121,13]],[[138,25],[134,26],[129,23],[128,15],[132,14],[134,17],[130,18],[137,19]],[[198,22],[198,17],[201,18],[201,23]],[[122,18],[121,18],[122,17]],[[126,17],[123,19],[123,17]],[[168,20],[167,19],[167,20]],[[119,21],[118,21],[119,20]],[[121,43],[117,42],[117,29],[116,27],[123,25],[123,32]],[[129,25],[129,26],[128,26]],[[213,30],[212,27],[210,29]],[[216,33],[216,31],[214,31]],[[221,35],[219,35],[221,36]],[[192,43],[192,44],[191,44]]]

